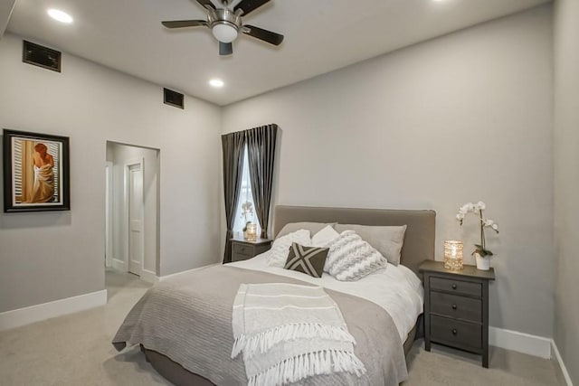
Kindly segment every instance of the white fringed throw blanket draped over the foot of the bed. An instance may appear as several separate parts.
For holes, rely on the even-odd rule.
[[[232,358],[243,353],[253,386],[312,375],[365,373],[336,302],[322,287],[242,284],[233,303]]]

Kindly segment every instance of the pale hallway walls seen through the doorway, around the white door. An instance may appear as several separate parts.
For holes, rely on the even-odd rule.
[[[110,156],[109,156],[110,154]],[[128,264],[128,219],[125,202],[125,165],[134,160],[143,160],[143,200],[144,200],[144,257],[143,269],[157,275],[158,260],[158,151],[144,147],[107,143],[107,160],[113,163],[112,197],[112,258]],[[127,269],[128,266],[125,267]]]

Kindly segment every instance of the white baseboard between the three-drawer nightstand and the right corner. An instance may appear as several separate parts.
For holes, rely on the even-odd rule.
[[[489,327],[489,344],[540,358],[551,358],[551,339],[543,336]]]

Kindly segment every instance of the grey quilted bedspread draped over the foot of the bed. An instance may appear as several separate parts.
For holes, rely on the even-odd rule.
[[[241,356],[232,360],[232,306],[242,283],[298,283],[293,278],[228,266],[211,266],[158,283],[138,301],[112,343],[142,344],[216,385],[246,385]],[[316,376],[300,385],[397,385],[407,378],[403,343],[392,317],[360,297],[327,289],[356,338],[367,373]]]

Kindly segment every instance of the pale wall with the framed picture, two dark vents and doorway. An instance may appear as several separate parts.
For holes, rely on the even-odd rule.
[[[11,34],[0,85],[0,127],[71,137],[71,211],[0,214],[0,312],[104,288],[107,140],[160,149],[159,274],[219,260],[219,108],[66,53],[62,73],[24,64]]]

